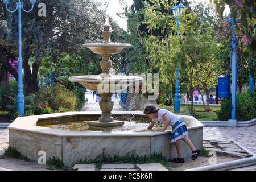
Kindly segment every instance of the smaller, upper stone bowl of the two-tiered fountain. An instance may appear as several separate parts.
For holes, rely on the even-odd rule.
[[[128,48],[130,46],[131,44],[121,43],[87,43],[82,45],[82,47],[87,47],[92,52],[99,55],[115,55],[117,53],[120,53],[124,48]]]

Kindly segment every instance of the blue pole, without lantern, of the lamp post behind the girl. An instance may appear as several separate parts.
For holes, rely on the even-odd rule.
[[[179,16],[175,18],[177,24],[177,36],[179,36],[180,24],[179,24]],[[177,65],[177,72],[176,72],[176,83],[175,83],[175,96],[174,96],[174,111],[180,111],[180,66]]]

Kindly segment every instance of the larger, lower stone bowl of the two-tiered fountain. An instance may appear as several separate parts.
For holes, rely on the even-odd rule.
[[[111,75],[110,77],[102,77],[101,75],[82,75],[72,76],[68,80],[77,82],[85,88],[92,91],[104,91],[105,93],[114,93],[126,89],[128,86],[133,85],[134,82],[139,82],[143,78],[138,76],[123,76]]]

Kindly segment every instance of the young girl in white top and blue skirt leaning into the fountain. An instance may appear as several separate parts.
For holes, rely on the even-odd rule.
[[[188,138],[187,127],[183,119],[166,109],[159,109],[152,104],[145,107],[144,114],[148,118],[152,119],[152,122],[147,129],[152,129],[152,127],[155,125],[155,122],[159,121],[164,123],[164,127],[158,131],[165,131],[169,125],[172,127],[170,142],[175,144],[178,154],[178,157],[172,159],[172,162],[184,163],[184,158],[182,158],[181,153],[180,139],[187,143],[187,145],[191,148],[192,160],[195,160],[199,156],[200,150],[196,149],[191,140]]]

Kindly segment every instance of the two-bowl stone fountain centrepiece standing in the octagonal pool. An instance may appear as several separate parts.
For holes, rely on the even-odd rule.
[[[130,44],[112,43],[110,36],[112,34],[112,28],[108,23],[108,18],[104,26],[102,26],[102,36],[104,40],[102,43],[89,43],[83,44],[83,47],[89,48],[92,52],[101,55],[101,69],[100,75],[83,75],[69,77],[69,81],[77,82],[85,88],[98,91],[101,96],[100,109],[101,117],[98,121],[89,121],[90,127],[96,128],[109,128],[114,126],[121,126],[123,121],[115,121],[112,117],[111,111],[113,109],[114,102],[111,101],[113,93],[125,90],[128,86],[133,85],[134,82],[140,82],[143,78],[138,76],[123,76],[123,75],[111,75],[110,68],[112,67],[112,61],[110,56],[120,53],[124,48],[129,48]]]

